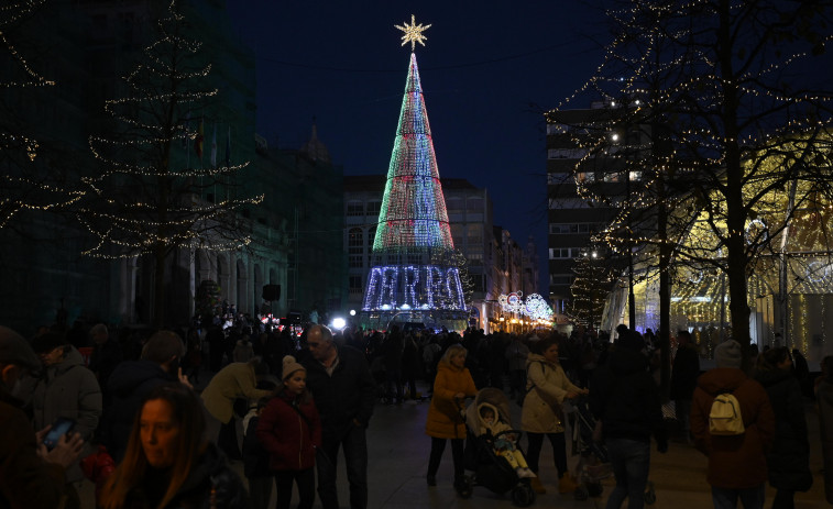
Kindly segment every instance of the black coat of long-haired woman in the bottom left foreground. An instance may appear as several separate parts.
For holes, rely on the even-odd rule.
[[[149,467],[149,472],[153,469]],[[145,475],[142,485],[132,489],[124,500],[124,509],[155,509],[147,493],[157,493],[160,476]],[[149,489],[153,486],[152,489]],[[211,499],[213,498],[213,504]],[[185,483],[165,509],[246,509],[249,495],[243,482],[228,464],[226,456],[212,443],[194,462]]]

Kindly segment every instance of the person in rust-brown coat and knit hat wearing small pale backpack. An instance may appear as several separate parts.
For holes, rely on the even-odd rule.
[[[737,341],[717,345],[714,362],[717,367],[698,379],[691,406],[694,446],[709,458],[706,480],[712,487],[712,502],[715,509],[736,508],[741,499],[744,509],[761,509],[766,453],[775,439],[772,406],[764,387],[741,369],[743,348]],[[737,407],[735,414],[743,431],[732,420],[721,423],[710,418],[712,411],[716,416],[733,406]]]

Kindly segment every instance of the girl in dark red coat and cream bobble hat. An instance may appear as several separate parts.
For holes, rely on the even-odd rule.
[[[307,370],[287,355],[282,384],[263,409],[257,422],[257,440],[270,455],[275,474],[277,509],[289,509],[293,482],[298,486],[298,509],[315,501],[316,449],[321,445],[321,420],[307,391]]]

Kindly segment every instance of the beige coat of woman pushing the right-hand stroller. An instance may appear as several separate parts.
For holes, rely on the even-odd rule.
[[[530,353],[526,359],[526,397],[520,429],[531,433],[562,433],[561,405],[570,391],[579,391],[558,364]]]

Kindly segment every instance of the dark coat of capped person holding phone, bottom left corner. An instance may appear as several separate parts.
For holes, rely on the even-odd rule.
[[[53,509],[64,496],[64,468],[37,455],[32,423],[0,383],[0,508]]]

